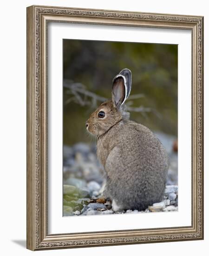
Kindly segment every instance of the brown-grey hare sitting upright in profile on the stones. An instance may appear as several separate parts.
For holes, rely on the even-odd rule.
[[[131,71],[124,68],[112,82],[111,100],[86,121],[97,137],[97,156],[105,170],[103,195],[114,211],[144,210],[163,199],[168,155],[149,128],[130,121],[124,102],[131,92]]]

